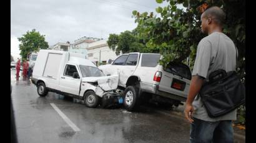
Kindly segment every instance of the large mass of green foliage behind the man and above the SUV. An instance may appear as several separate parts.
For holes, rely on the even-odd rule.
[[[244,0],[156,0],[168,2],[153,12],[132,11],[137,27],[132,32],[111,34],[109,47],[117,53],[159,52],[160,64],[166,66],[171,60],[184,63],[189,57],[190,68],[194,66],[197,44],[205,34],[200,31],[200,16],[210,6],[221,7],[226,14],[224,34],[232,39],[239,50],[237,71],[245,81],[245,1]],[[184,9],[179,7],[183,6]],[[124,36],[126,35],[126,36]],[[129,38],[128,38],[129,37]],[[134,47],[134,46],[137,46]]]

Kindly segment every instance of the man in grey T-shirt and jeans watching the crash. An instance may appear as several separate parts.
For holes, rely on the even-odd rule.
[[[212,71],[223,69],[234,71],[236,54],[234,42],[222,33],[225,13],[219,7],[210,7],[201,16],[202,32],[208,34],[197,47],[189,95],[185,103],[185,118],[191,123],[190,142],[234,142],[232,120],[237,111],[210,118],[198,95],[205,80]]]

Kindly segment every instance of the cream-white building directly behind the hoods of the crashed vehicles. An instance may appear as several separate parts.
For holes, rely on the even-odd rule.
[[[116,52],[109,48],[106,39],[88,44],[87,59],[95,62],[96,65],[99,65],[99,62],[102,64],[106,64],[109,59],[115,60],[116,58]]]

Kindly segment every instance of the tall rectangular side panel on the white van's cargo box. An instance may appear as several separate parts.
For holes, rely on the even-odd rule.
[[[61,65],[61,53],[48,53],[46,67],[44,67],[44,76],[47,80],[47,87],[56,89],[59,85],[59,67]]]

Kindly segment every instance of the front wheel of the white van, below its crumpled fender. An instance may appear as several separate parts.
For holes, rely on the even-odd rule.
[[[84,93],[84,103],[87,107],[96,108],[99,105],[99,96],[94,91],[87,91]]]

